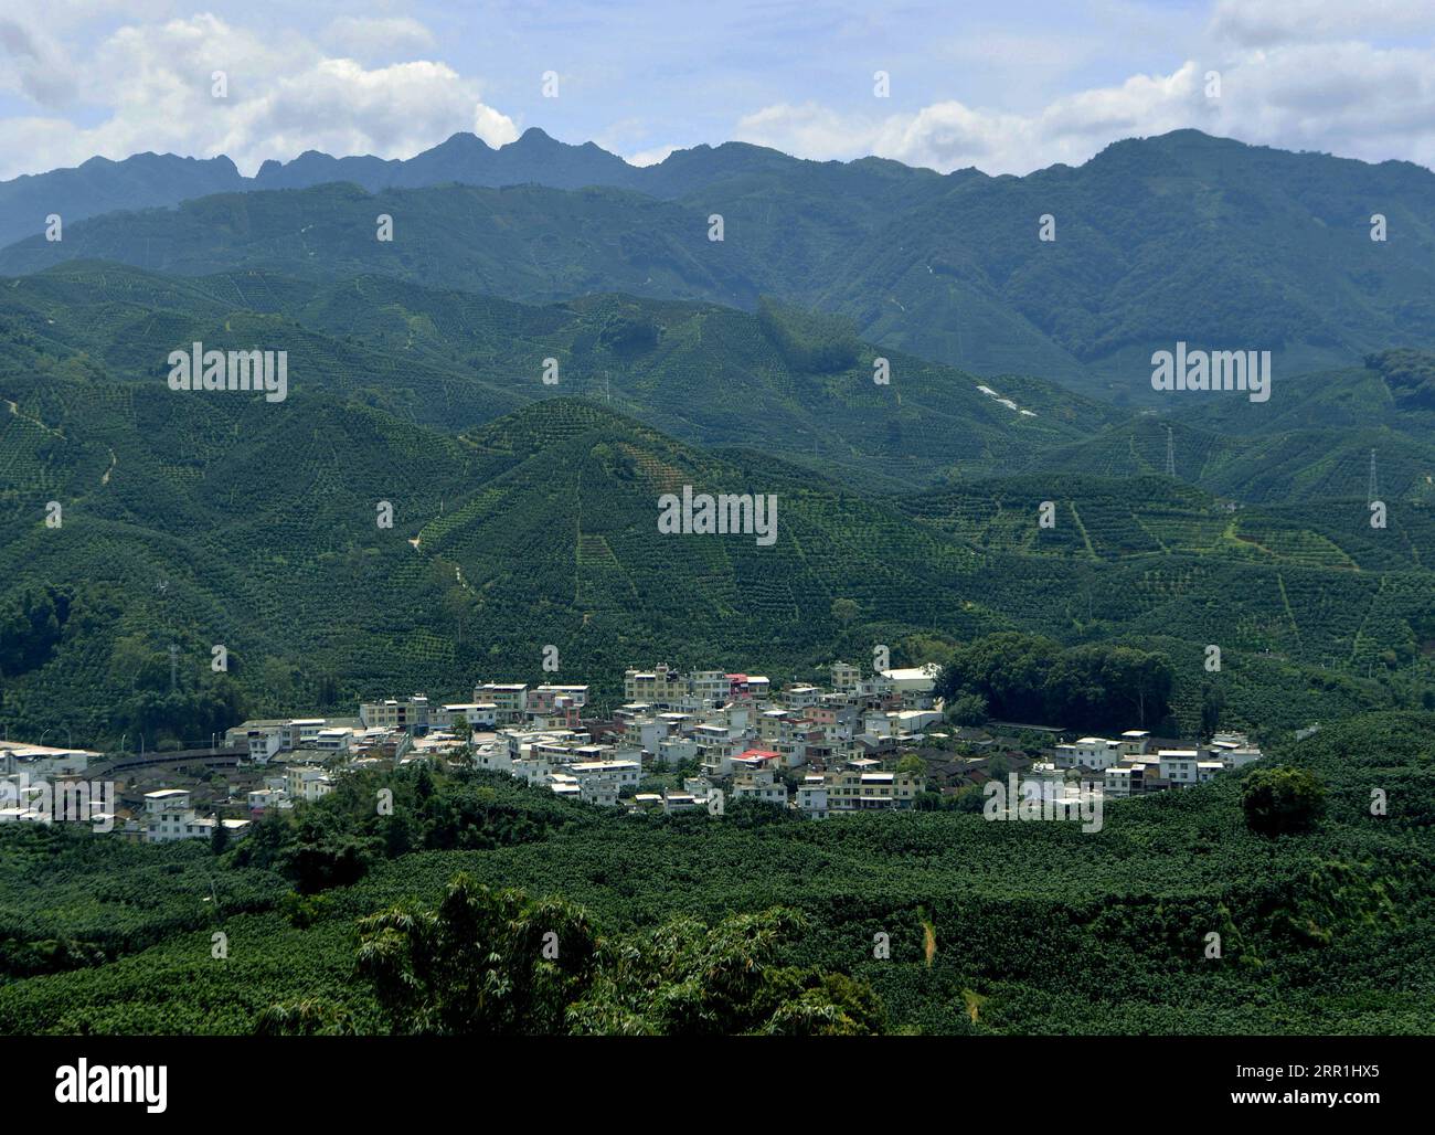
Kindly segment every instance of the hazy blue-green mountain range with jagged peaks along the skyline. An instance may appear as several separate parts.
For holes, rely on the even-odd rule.
[[[1158,402],[1149,356],[1177,340],[1271,350],[1277,382],[1435,346],[1435,174],[1197,131],[1023,178],[745,143],[637,168],[541,131],[498,149],[455,135],[408,161],[304,154],[254,178],[225,158],[95,159],[6,182],[0,205],[14,241],[0,273],[103,258],[538,303],[620,290],[755,310],[772,296],[887,349],[1137,405]],[[43,234],[50,212],[60,241]]]

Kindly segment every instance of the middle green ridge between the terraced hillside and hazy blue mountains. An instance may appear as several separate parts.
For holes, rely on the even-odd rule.
[[[1119,419],[1039,379],[983,392],[954,367],[881,354],[845,320],[772,301],[755,314],[626,296],[532,307],[372,275],[184,278],[67,264],[0,284],[0,331],[11,400],[43,405],[57,372],[161,383],[169,352],[197,340],[265,346],[288,352],[296,392],[429,426],[583,395],[684,441],[806,462],[865,488],[1038,463]]]

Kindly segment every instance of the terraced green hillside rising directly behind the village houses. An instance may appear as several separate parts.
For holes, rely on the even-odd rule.
[[[1004,628],[1172,640],[1191,725],[1211,682],[1201,647],[1220,643],[1233,720],[1277,729],[1419,705],[1411,674],[1435,637],[1431,515],[1415,502],[1375,532],[1359,501],[1349,517],[1231,512],[1159,478],[893,498],[583,399],[453,435],[352,397],[185,396],[80,363],[29,390],[0,418],[4,712],[86,743],[451,696],[531,676],[547,644],[611,697],[624,666],[651,659],[782,674],[874,643],[920,661],[933,641]],[[775,542],[663,535],[657,501],[684,485],[775,494]],[[228,674],[207,666],[217,643]]]

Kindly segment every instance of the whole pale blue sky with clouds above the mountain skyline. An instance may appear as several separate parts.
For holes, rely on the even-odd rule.
[[[403,158],[456,131],[501,145],[528,126],[636,162],[742,139],[1023,174],[1197,126],[1435,166],[1435,13],[1431,0],[7,0],[0,14],[0,178],[145,149],[228,154],[244,172],[311,148]]]

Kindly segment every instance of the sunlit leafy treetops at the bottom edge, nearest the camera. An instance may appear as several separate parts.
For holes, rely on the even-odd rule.
[[[784,966],[802,920],[736,914],[718,927],[674,920],[603,937],[561,898],[491,891],[456,875],[433,910],[400,905],[359,923],[356,973],[393,1032],[841,1035],[881,1032],[872,992],[844,974]],[[343,1010],[265,1010],[261,1033],[350,1032]]]

